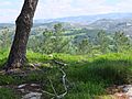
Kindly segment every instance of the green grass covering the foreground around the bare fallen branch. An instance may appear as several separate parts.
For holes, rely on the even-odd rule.
[[[30,73],[26,77],[20,78],[12,75],[0,75],[0,86],[2,85],[20,85],[25,82],[38,82],[45,84],[44,89],[52,92],[48,84],[51,78],[58,92],[63,92],[63,86],[61,84],[61,73],[55,68],[55,64],[45,63],[51,59],[57,59],[68,64],[65,72],[68,77],[69,91],[66,99],[91,99],[95,96],[106,95],[106,88],[111,85],[122,85],[132,82],[132,56],[131,52],[127,53],[113,53],[107,55],[100,55],[89,58],[87,55],[66,55],[66,54],[53,54],[53,57],[48,55],[42,55],[38,53],[29,52],[28,58],[30,63],[43,63],[41,67],[43,72]],[[8,53],[0,52],[0,67],[3,67],[3,63],[7,61]],[[3,90],[0,88],[0,90]],[[7,95],[11,96],[10,89],[6,89]],[[6,96],[3,94],[3,96]],[[11,95],[10,95],[11,94]],[[1,96],[1,92],[0,92]],[[13,96],[11,96],[11,99]],[[0,98],[10,99],[10,98]]]

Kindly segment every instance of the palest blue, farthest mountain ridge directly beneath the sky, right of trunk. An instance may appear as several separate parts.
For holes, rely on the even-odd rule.
[[[108,14],[97,14],[97,15],[80,15],[80,16],[67,16],[58,19],[40,19],[34,20],[34,23],[50,23],[50,22],[69,22],[69,23],[82,23],[89,24],[94,21],[100,19],[132,19],[132,13],[108,13]]]

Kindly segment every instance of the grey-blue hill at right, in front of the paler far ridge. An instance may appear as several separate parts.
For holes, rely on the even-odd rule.
[[[108,32],[123,31],[132,35],[132,19],[101,19],[89,24],[88,29],[106,30]]]

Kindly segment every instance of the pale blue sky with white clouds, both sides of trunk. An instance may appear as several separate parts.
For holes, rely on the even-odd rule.
[[[0,22],[15,21],[24,0],[0,0]],[[40,0],[35,19],[132,12],[132,0]]]

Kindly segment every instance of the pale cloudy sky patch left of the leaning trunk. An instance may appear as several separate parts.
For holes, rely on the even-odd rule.
[[[0,22],[14,21],[21,11],[22,0],[1,1],[0,0]]]

